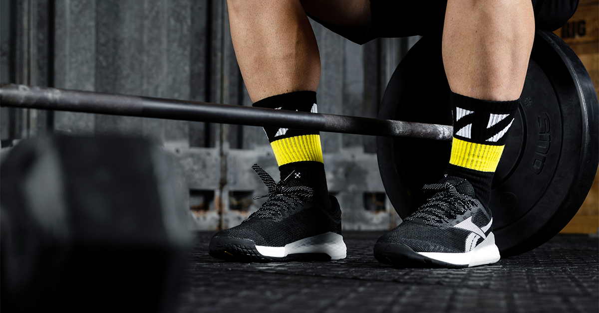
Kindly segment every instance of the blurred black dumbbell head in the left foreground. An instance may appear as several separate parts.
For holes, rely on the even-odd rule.
[[[0,172],[3,311],[174,309],[192,236],[167,153],[50,136],[20,142]]]

